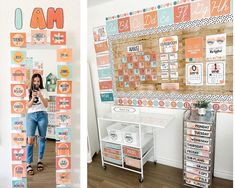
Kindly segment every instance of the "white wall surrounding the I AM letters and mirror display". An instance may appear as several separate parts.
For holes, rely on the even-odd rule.
[[[14,12],[16,8],[22,8],[24,25],[21,31],[30,31],[29,23],[33,8],[42,7],[46,13],[49,7],[60,7],[64,9],[64,30],[67,31],[67,44],[73,48],[73,126],[72,126],[72,187],[79,187],[80,179],[80,70],[79,70],[79,51],[80,51],[80,3],[79,0],[60,0],[60,1],[40,1],[40,0],[11,0],[7,6],[0,7],[0,187],[11,187],[11,114],[10,114],[10,32],[16,31],[14,28]],[[40,52],[39,52],[40,53]],[[47,58],[46,54],[44,56]],[[54,61],[53,63],[56,63]]]

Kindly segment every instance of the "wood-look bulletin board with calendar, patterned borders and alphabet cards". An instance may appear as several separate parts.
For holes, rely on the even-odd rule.
[[[185,109],[204,99],[232,112],[231,9],[230,0],[179,0],[106,18],[115,104]]]

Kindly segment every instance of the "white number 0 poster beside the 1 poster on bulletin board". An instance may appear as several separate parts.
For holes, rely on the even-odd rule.
[[[203,85],[203,64],[186,64],[186,85]]]

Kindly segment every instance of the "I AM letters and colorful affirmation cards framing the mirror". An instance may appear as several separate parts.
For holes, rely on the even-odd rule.
[[[15,29],[23,28],[23,10],[15,10]],[[31,35],[25,32],[10,33],[11,51],[11,140],[12,140],[12,187],[27,188],[26,179],[26,85],[30,75],[43,75],[43,62],[27,57],[28,43],[31,45],[58,46],[56,50],[57,75],[46,77],[46,89],[56,92],[53,106],[56,141],[56,187],[70,187],[71,184],[71,94],[72,94],[72,49],[67,44],[62,8],[49,7],[47,14],[41,7],[35,7],[30,20]],[[47,29],[47,30],[46,30]],[[53,31],[51,31],[53,29]],[[28,32],[27,32],[28,33]],[[30,38],[26,42],[26,38]],[[46,46],[45,46],[46,47]],[[57,86],[57,90],[56,90]],[[51,119],[52,120],[52,119]],[[16,164],[17,163],[17,164]],[[17,179],[16,179],[17,178]]]

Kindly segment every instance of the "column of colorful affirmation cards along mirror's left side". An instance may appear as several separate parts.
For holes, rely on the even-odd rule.
[[[11,33],[12,187],[27,188],[26,179],[26,33]]]

